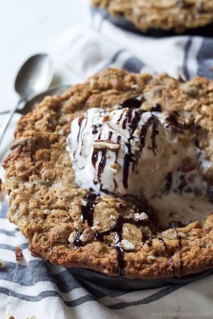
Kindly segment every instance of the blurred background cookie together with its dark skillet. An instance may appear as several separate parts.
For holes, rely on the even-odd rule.
[[[213,34],[211,0],[92,0],[91,4],[105,19],[133,32],[152,36]]]

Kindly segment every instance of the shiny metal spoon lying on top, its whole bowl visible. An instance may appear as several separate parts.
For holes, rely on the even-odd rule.
[[[20,104],[26,103],[29,96],[48,89],[53,78],[51,59],[47,54],[31,56],[19,70],[15,80],[15,90],[20,94],[17,105],[9,112],[8,118],[0,129],[0,144],[12,116]]]

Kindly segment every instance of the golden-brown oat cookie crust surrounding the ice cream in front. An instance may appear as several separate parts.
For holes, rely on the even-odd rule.
[[[78,249],[68,242],[76,229],[74,221],[80,220],[79,203],[86,190],[74,184],[66,137],[71,121],[88,108],[106,108],[139,94],[146,99],[143,109],[150,110],[160,103],[163,110],[193,112],[195,121],[207,130],[200,147],[213,160],[213,81],[207,78],[196,77],[184,83],[165,73],[151,76],[107,69],[84,84],[69,88],[62,96],[46,97],[19,120],[12,151],[3,164],[3,189],[9,194],[10,204],[8,218],[28,238],[33,256],[43,256],[64,267],[78,266],[118,275],[113,233],[105,236],[105,242],[91,239]],[[212,171],[207,179],[213,181]],[[100,231],[114,225],[111,215],[117,218],[130,211],[131,202],[123,201],[122,208],[118,202],[112,195],[98,199],[93,225]],[[129,278],[182,276],[213,267],[213,214],[203,222],[158,232],[151,244],[141,240],[135,225],[124,223],[122,238],[135,246],[124,253],[124,276]]]

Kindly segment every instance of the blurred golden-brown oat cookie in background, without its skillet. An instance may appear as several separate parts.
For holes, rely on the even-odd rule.
[[[92,6],[124,15],[142,32],[155,28],[182,33],[213,21],[212,0],[92,0]]]

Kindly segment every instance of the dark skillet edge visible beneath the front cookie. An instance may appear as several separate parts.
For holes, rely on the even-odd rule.
[[[212,273],[212,269],[198,274],[182,276],[181,278],[159,278],[159,279],[129,279],[123,276],[111,277],[97,271],[84,268],[70,268],[69,271],[80,278],[87,279],[95,284],[110,289],[141,290],[169,286],[173,284],[189,284],[193,281],[204,278]]]

